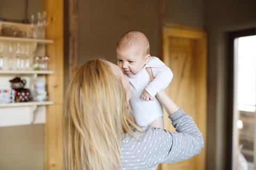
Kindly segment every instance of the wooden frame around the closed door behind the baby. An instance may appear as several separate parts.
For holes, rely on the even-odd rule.
[[[203,28],[190,27],[187,25],[166,23],[163,27],[163,58],[169,63],[169,37],[189,38],[196,40],[196,124],[203,134],[204,149],[195,157],[195,169],[205,169],[206,165],[206,121],[207,121],[207,91],[206,91],[206,52],[207,37]],[[168,65],[167,65],[168,66]],[[182,106],[181,106],[182,107]]]

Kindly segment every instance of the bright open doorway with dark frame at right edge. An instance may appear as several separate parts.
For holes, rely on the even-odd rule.
[[[229,68],[228,146],[231,146],[231,169],[255,169],[256,105],[256,36],[255,29],[229,35],[231,66]]]

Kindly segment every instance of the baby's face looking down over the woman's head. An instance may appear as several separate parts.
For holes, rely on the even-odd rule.
[[[118,66],[129,77],[139,73],[145,64],[148,63],[150,57],[150,55],[143,56],[141,50],[136,48],[127,50],[117,49],[116,53]]]

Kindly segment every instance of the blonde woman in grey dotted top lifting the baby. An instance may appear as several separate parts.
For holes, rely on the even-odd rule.
[[[157,98],[177,132],[136,125],[130,97],[118,66],[97,59],[77,69],[63,108],[63,169],[152,169],[200,153],[202,133],[164,91]]]

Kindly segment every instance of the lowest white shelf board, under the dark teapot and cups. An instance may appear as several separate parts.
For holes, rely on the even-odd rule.
[[[5,103],[0,104],[1,107],[23,107],[23,106],[44,106],[53,105],[53,101],[30,101],[30,102],[20,102],[20,103]]]

